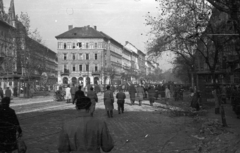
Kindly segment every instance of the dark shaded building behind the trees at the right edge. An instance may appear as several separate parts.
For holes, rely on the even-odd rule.
[[[237,41],[235,41],[235,39],[233,39],[233,41],[227,40],[231,34],[234,35],[232,20],[226,13],[214,9],[210,18],[210,23],[211,25],[208,25],[201,36],[204,43],[201,41],[198,42],[198,50],[201,50],[204,54],[212,55],[209,57],[210,63],[214,62],[213,55],[218,53],[218,61],[214,70],[216,83],[239,83],[239,72],[234,71],[239,63],[236,53]],[[214,25],[214,27],[212,25]],[[217,36],[212,35],[214,32]],[[214,39],[218,39],[218,42],[222,43],[221,49],[216,50],[216,46],[212,39],[209,39],[210,36],[215,37]],[[196,52],[196,57],[197,84],[212,84],[213,76],[205,59],[199,52]]]

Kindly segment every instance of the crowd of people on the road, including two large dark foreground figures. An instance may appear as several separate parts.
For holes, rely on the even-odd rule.
[[[103,94],[103,102],[108,118],[113,118],[114,102],[117,102],[118,113],[124,113],[124,104],[126,94],[129,94],[131,105],[138,102],[142,105],[144,99],[153,103],[159,97],[165,98],[166,101],[174,95],[171,86],[168,85],[143,85],[129,84],[122,86],[107,85],[106,88],[89,86],[67,85],[63,90],[64,99],[67,103],[76,106],[78,115],[76,118],[68,119],[63,123],[62,130],[59,134],[58,151],[63,152],[94,152],[100,153],[100,149],[109,152],[113,149],[113,139],[108,131],[105,121],[94,117],[96,103],[98,103],[98,93]],[[1,94],[1,92],[0,92]],[[15,111],[9,107],[10,97],[5,94],[0,95],[0,153],[11,153],[17,149],[17,139],[22,136]]]

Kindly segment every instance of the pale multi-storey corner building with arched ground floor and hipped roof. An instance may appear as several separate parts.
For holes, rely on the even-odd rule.
[[[122,45],[97,27],[69,26],[56,36],[58,41],[59,83],[109,83],[110,73],[120,76]]]

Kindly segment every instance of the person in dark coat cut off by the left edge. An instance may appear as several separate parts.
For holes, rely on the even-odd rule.
[[[11,153],[17,150],[17,137],[22,136],[15,111],[9,107],[10,98],[4,97],[0,106],[0,152]],[[18,135],[17,135],[18,133]]]

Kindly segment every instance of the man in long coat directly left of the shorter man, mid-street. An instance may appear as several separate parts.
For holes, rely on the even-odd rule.
[[[110,90],[110,86],[107,86],[107,90],[104,92],[104,96],[103,96],[103,100],[104,100],[104,105],[105,105],[105,109],[107,111],[107,116],[113,117],[113,103],[114,103],[114,97],[113,97],[113,92]]]

